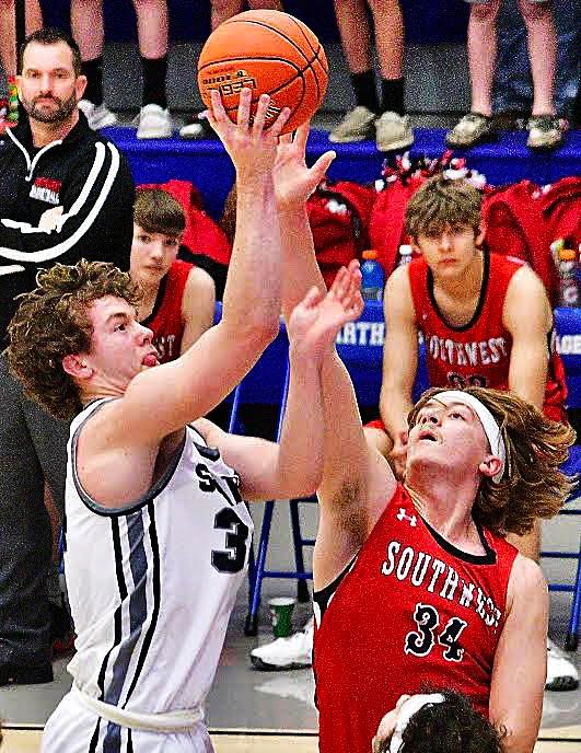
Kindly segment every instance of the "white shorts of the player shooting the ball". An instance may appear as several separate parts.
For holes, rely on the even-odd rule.
[[[105,742],[106,741],[106,742]],[[46,722],[42,753],[213,753],[206,725],[185,732],[129,730],[85,709],[68,693]]]

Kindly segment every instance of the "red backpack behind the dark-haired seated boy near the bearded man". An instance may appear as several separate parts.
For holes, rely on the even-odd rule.
[[[224,231],[204,211],[201,194],[193,183],[172,178],[167,183],[137,186],[140,188],[161,188],[179,201],[186,216],[182,243],[193,254],[204,254],[219,264],[230,263],[232,246]]]

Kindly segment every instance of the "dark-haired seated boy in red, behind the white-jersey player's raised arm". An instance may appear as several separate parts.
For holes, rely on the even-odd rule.
[[[176,259],[185,227],[184,211],[167,192],[137,192],[130,275],[143,293],[139,320],[153,332],[161,363],[178,358],[213,322],[212,278]]]

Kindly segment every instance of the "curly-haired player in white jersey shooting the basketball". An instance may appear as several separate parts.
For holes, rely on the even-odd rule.
[[[272,165],[288,112],[264,131],[268,102],[249,125],[244,91],[234,125],[213,94],[210,121],[236,167],[236,241],[221,322],[181,358],[156,366],[136,290],[112,265],[40,273],[12,320],[8,358],[27,394],[55,415],[81,410],[69,441],[65,555],[78,652],[45,753],[211,751],[202,705],[252,531],[241,500],[311,494],[321,479],[321,369],[339,327],[361,313],[357,268],[342,269],[325,296],[311,290],[289,317],[279,444],[200,418],[278,333]]]

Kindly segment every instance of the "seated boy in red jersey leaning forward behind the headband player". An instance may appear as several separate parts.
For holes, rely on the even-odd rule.
[[[365,427],[368,440],[398,478],[406,463],[420,334],[432,386],[510,390],[548,418],[567,420],[565,374],[553,348],[546,290],[527,265],[487,253],[480,205],[480,192],[468,182],[438,175],[406,209],[421,258],[396,269],[385,286],[381,420]],[[539,522],[509,541],[538,560]],[[574,690],[574,665],[553,641],[547,651],[547,690]]]

